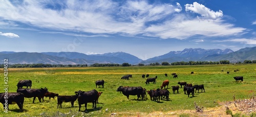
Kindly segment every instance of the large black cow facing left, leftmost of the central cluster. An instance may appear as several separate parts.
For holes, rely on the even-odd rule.
[[[123,95],[129,99],[129,96],[136,96],[137,95],[137,100],[139,100],[139,97],[141,96],[142,100],[144,98],[143,96],[143,88],[141,86],[138,87],[123,87],[119,86],[116,91],[122,91]]]

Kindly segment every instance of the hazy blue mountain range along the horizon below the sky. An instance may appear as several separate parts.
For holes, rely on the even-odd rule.
[[[147,60],[124,53],[105,53],[97,55],[86,55],[77,52],[0,52],[0,62],[8,58],[9,64],[94,64],[94,63],[130,63],[150,64],[155,62],[177,62],[177,61],[220,61],[243,62],[244,60],[256,60],[256,46],[240,49],[233,52],[230,49],[184,49],[183,51],[170,51],[167,54],[153,57]]]

